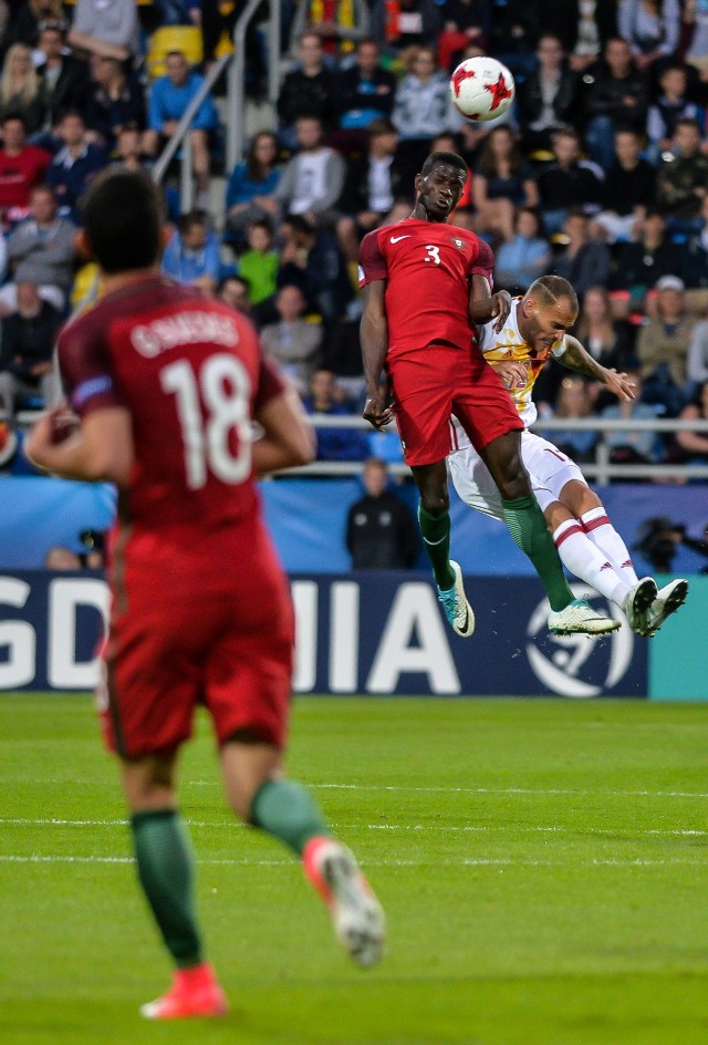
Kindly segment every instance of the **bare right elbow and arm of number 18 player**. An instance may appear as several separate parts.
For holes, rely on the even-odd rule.
[[[253,443],[257,476],[309,464],[315,455],[312,425],[294,389],[269,400],[256,414],[264,435]]]

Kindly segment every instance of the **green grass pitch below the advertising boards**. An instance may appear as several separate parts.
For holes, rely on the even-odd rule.
[[[350,966],[299,866],[225,808],[206,722],[183,807],[232,1011],[150,1025],[169,964],[86,696],[0,699],[2,1045],[708,1041],[708,705],[300,699],[315,789],[389,920]]]

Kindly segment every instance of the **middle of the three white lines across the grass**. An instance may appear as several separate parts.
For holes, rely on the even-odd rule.
[[[246,825],[240,820],[232,819],[229,820],[227,817],[225,820],[190,820],[188,817],[185,818],[189,827],[208,827],[208,828],[219,828],[219,829],[232,829],[232,828],[243,828]],[[127,827],[128,820],[61,820],[55,817],[52,819],[41,819],[34,817],[0,817],[0,826],[9,825],[11,827],[30,827],[37,824],[49,827]],[[507,831],[513,831],[514,834],[548,834],[548,835],[606,835],[608,831],[620,830],[617,827],[607,826],[607,827],[590,827],[590,828],[577,828],[577,827],[535,827],[527,825],[447,825],[447,824],[332,824],[332,827],[344,830],[355,830],[364,827],[369,831],[431,831],[434,834],[442,834],[448,831],[462,832],[462,834],[504,834]],[[624,831],[624,828],[622,828]],[[633,832],[633,836],[638,835],[674,835],[679,837],[697,836],[706,837],[708,836],[708,830],[696,830],[693,828],[637,828]]]

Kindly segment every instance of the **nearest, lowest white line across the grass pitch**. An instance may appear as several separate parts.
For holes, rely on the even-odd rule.
[[[134,863],[132,857],[0,855],[0,863]],[[362,860],[362,867],[707,867],[706,860]],[[197,860],[200,866],[293,867],[293,860]]]

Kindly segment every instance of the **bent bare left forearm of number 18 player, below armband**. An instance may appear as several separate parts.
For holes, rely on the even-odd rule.
[[[127,410],[92,410],[73,428],[65,424],[65,416],[66,406],[56,406],[40,417],[25,444],[29,459],[64,479],[127,486],[134,459]]]

